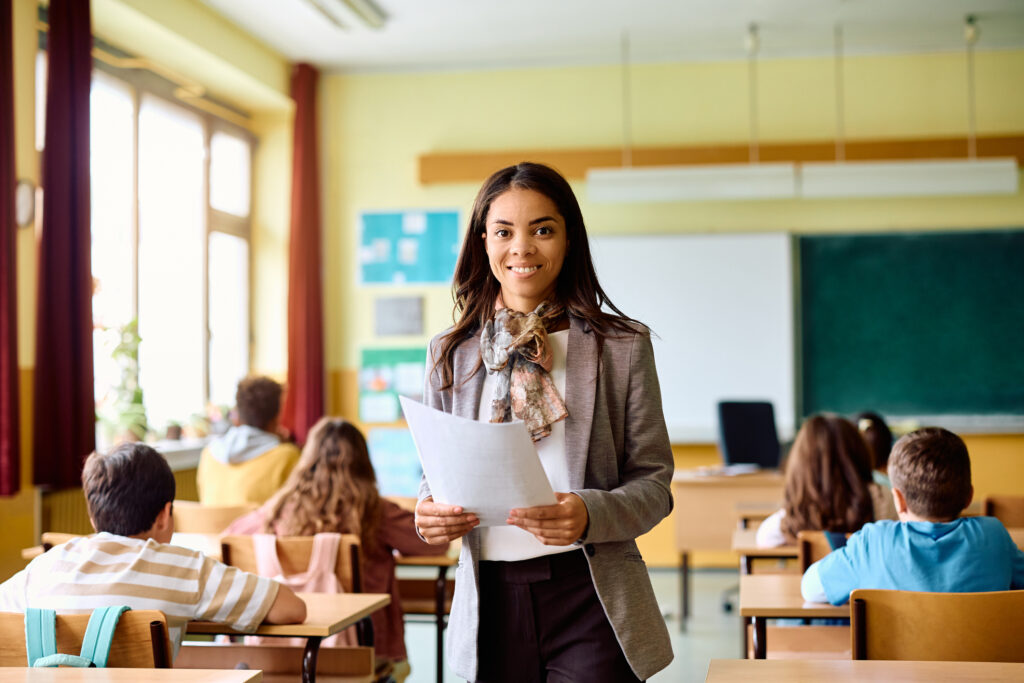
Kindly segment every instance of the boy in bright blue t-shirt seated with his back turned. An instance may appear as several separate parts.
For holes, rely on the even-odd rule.
[[[865,524],[812,564],[801,592],[843,604],[857,588],[973,593],[1024,588],[1024,552],[994,517],[959,517],[971,503],[971,459],[939,427],[901,438],[889,457],[899,521]]]

